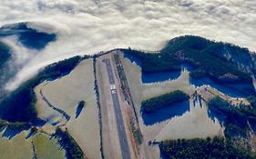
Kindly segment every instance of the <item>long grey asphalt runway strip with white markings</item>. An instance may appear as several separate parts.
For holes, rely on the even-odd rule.
[[[109,84],[115,84],[115,78],[113,75],[112,66],[110,65],[110,59],[107,58],[107,59],[103,59],[102,61],[106,64]],[[130,159],[130,152],[129,152],[129,148],[128,148],[128,138],[127,138],[126,129],[125,129],[124,121],[123,121],[123,116],[122,116],[122,112],[121,112],[121,108],[120,108],[118,93],[112,94],[111,90],[109,90],[109,91],[112,96],[112,101],[113,101],[116,120],[117,120],[118,136],[119,136],[119,143],[120,143],[121,151],[122,151],[122,157],[123,157],[123,159]]]

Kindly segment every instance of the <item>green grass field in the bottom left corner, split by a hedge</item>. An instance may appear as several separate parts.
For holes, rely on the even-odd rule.
[[[55,139],[50,139],[50,136],[42,133],[36,133],[33,137],[26,139],[27,134],[29,134],[29,131],[22,132],[12,140],[1,138],[0,159],[33,158],[32,142],[35,144],[38,159],[65,158],[65,152],[59,149]]]

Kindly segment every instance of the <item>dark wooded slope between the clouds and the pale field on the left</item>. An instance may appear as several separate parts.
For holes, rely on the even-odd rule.
[[[75,56],[46,66],[34,78],[19,86],[0,101],[0,118],[9,122],[41,123],[41,120],[37,118],[34,87],[45,80],[54,80],[69,74],[80,60],[87,57]]]

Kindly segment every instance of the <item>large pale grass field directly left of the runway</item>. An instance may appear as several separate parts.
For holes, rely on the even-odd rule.
[[[93,59],[81,61],[69,75],[36,87],[41,88],[47,100],[70,116],[65,125],[88,158],[100,158],[100,139],[96,94],[94,91]],[[38,95],[37,95],[38,97]],[[40,96],[39,96],[40,97]],[[77,105],[85,101],[85,107],[76,118]],[[40,117],[52,118],[51,122],[62,121],[62,116],[37,100]],[[63,123],[63,122],[61,122]]]

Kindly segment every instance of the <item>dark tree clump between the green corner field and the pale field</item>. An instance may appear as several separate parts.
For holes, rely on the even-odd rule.
[[[67,159],[84,159],[86,158],[82,149],[66,131],[56,128],[56,134],[53,135],[57,139],[60,146],[66,151]]]

